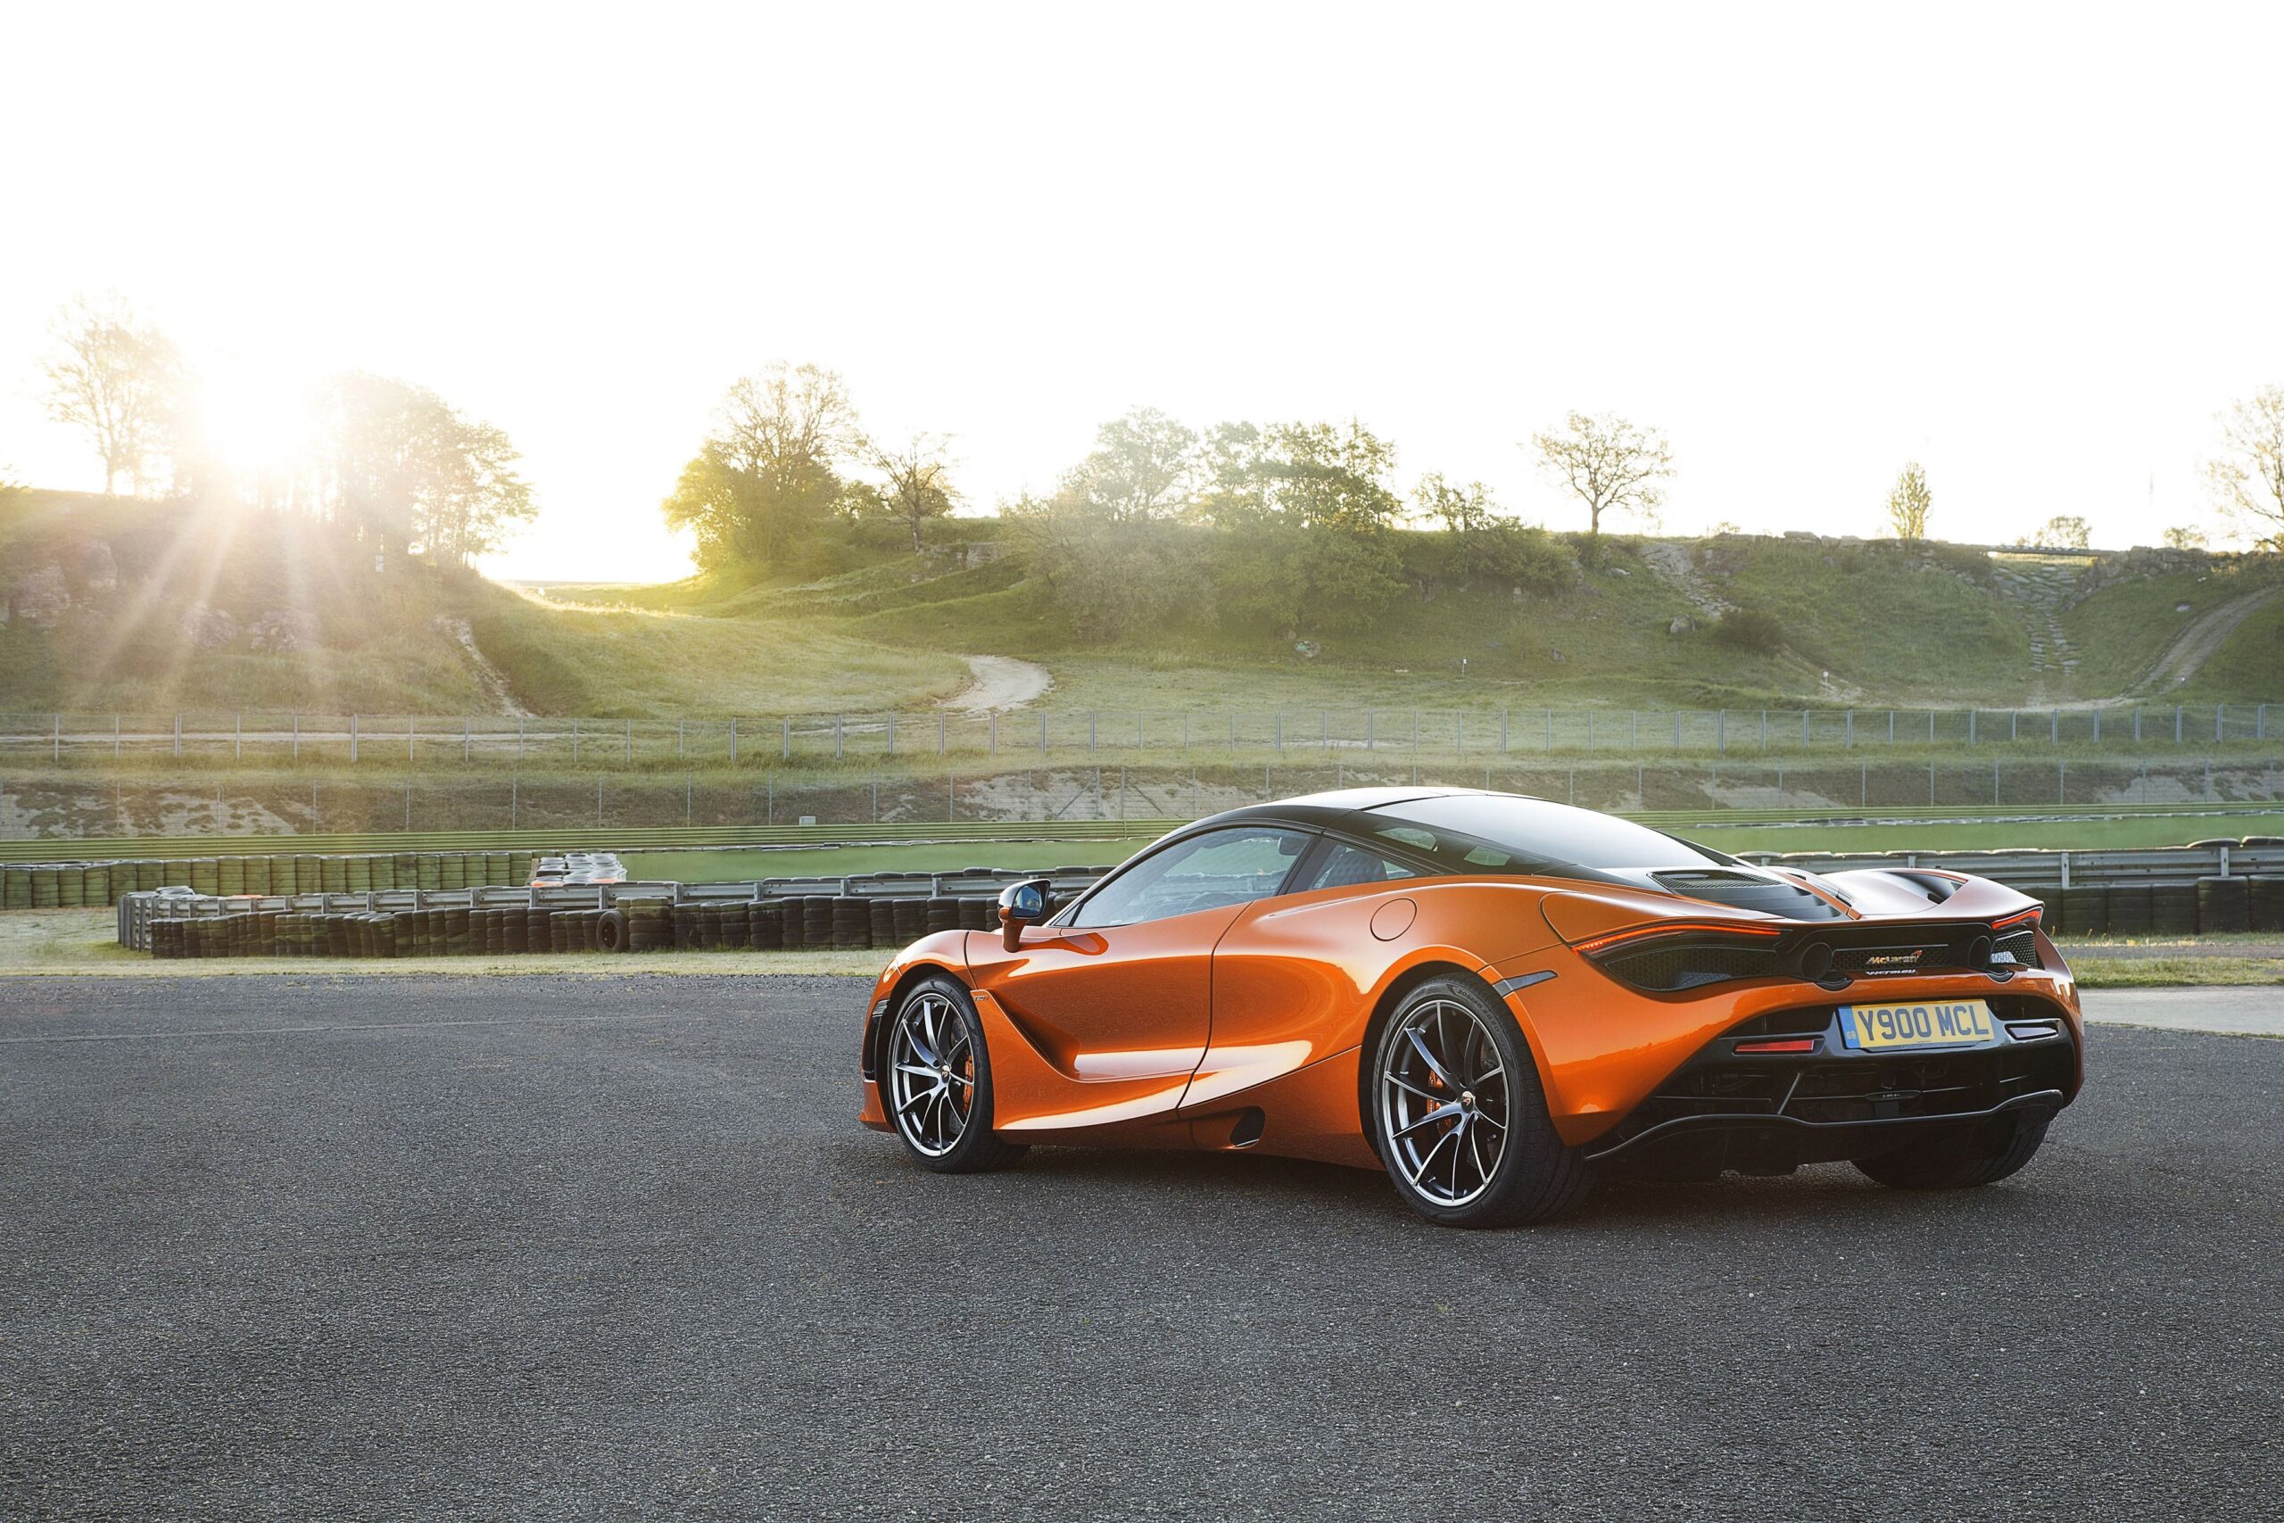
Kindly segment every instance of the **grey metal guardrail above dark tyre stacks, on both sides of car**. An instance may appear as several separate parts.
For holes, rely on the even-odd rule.
[[[2110,852],[1743,852],[1747,861],[1782,863],[1807,872],[1852,868],[1941,868],[1989,877],[2024,893],[2058,893],[2097,884],[2195,884],[2204,877],[2284,877],[2284,843],[2213,843]],[[560,888],[400,888],[379,893],[304,893],[270,897],[210,897],[187,891],[137,891],[119,900],[119,945],[151,950],[153,918],[224,916],[240,911],[397,911],[397,909],[612,909],[624,900],[726,904],[774,897],[964,897],[996,895],[1007,884],[1046,877],[1057,893],[1076,893],[1108,868],[968,868],[959,872],[863,872],[850,877],[770,877],[745,884],[576,884]]]

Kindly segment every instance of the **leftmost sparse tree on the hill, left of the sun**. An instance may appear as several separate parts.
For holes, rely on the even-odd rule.
[[[103,493],[126,475],[139,495],[160,429],[176,411],[174,343],[116,295],[75,297],[55,317],[41,372],[48,416],[85,429],[103,459]]]

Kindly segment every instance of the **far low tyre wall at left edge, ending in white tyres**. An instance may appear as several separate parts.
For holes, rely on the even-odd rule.
[[[7,863],[0,868],[0,909],[110,906],[123,895],[180,886],[208,900],[292,897],[297,893],[391,893],[397,888],[521,888],[532,881],[614,881],[580,877],[566,859],[532,852],[395,852],[363,856],[176,856],[94,863]],[[550,879],[544,870],[555,868]]]

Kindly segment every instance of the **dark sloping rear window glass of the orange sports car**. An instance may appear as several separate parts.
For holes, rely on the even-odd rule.
[[[1384,840],[1432,856],[1446,872],[1599,877],[1729,861],[1631,820],[1498,792],[1405,799],[1364,811],[1359,822],[1370,822],[1366,829]]]

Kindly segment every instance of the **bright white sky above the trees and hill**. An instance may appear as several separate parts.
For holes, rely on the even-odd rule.
[[[525,450],[491,571],[669,578],[722,388],[841,370],[971,498],[1133,404],[1517,450],[1663,427],[1667,527],[2094,543],[2209,521],[2284,384],[2284,7],[308,7],[0,18],[0,464],[53,308],[116,288],[260,411],[434,386]],[[258,429],[256,429],[258,432]]]

